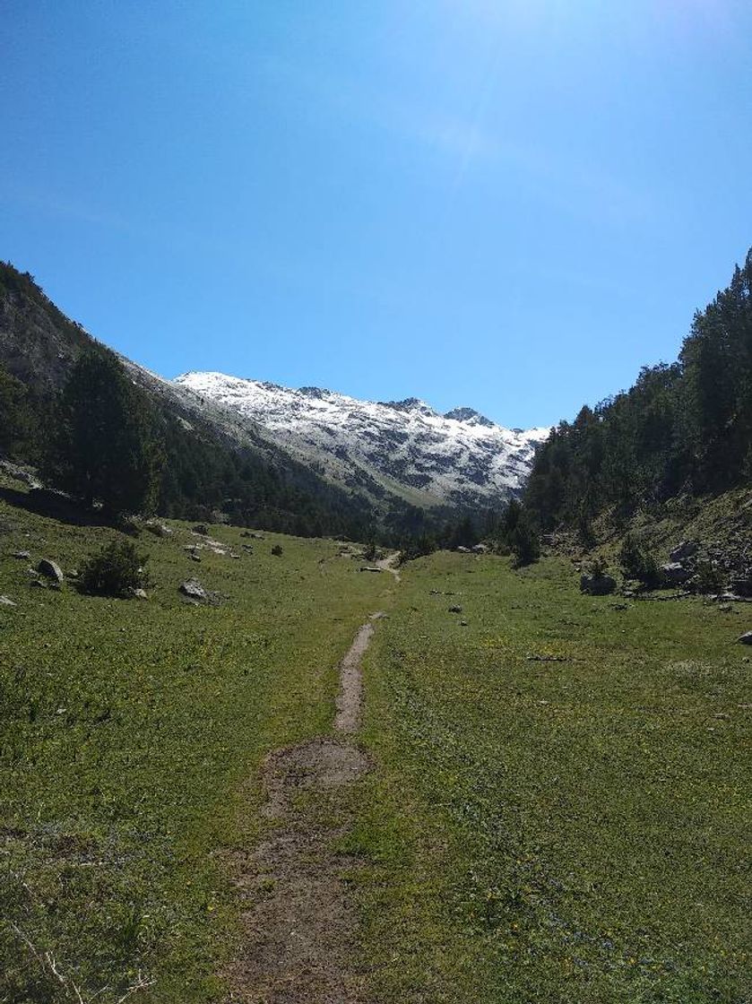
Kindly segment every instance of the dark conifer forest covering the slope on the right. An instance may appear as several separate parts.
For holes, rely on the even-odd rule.
[[[592,543],[593,516],[628,516],[683,491],[749,481],[752,458],[752,252],[697,313],[679,360],[562,422],[535,458],[525,501],[544,530]]]

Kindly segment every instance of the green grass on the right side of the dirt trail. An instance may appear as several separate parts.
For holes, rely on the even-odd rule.
[[[346,839],[375,1000],[749,999],[749,607],[620,606],[554,559],[405,570]]]

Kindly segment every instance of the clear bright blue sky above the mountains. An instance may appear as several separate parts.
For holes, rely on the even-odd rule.
[[[749,0],[4,0],[0,257],[166,374],[571,417],[752,244]]]

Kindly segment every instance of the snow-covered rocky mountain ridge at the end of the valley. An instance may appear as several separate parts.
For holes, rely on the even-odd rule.
[[[417,398],[358,401],[219,372],[188,372],[174,384],[202,408],[260,427],[328,477],[417,505],[489,505],[517,493],[549,432],[504,429],[471,408],[440,415]]]

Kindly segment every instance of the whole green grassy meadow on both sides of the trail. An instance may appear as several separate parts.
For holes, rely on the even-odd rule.
[[[27,566],[117,531],[0,499],[0,1002],[224,999],[259,764],[331,730],[379,608],[339,846],[370,1004],[750,999],[750,607],[583,596],[554,558],[440,552],[396,586],[221,526],[196,563],[169,526],[138,541],[148,600],[58,592]]]

